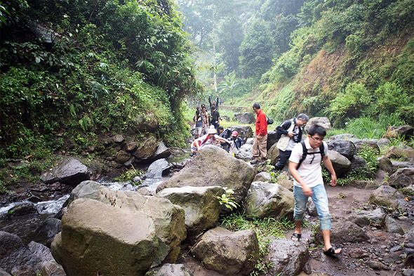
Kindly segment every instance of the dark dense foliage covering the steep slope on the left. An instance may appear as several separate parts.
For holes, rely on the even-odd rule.
[[[201,85],[169,0],[0,1],[0,158],[82,149],[100,134],[182,143]]]

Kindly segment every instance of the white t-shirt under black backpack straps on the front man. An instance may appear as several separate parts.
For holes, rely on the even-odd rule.
[[[303,160],[302,164],[298,169],[298,173],[300,177],[303,179],[306,185],[309,188],[315,187],[316,185],[323,184],[322,178],[322,167],[321,167],[321,154],[318,153],[316,155],[309,155],[309,152],[319,152],[319,147],[313,149],[309,145],[309,138],[305,140],[305,146],[307,148],[307,156],[305,160]],[[328,145],[323,142],[325,156],[328,155]],[[300,159],[303,156],[303,149],[302,144],[298,143],[293,147],[291,157],[289,158],[290,162],[299,163]],[[312,164],[311,164],[312,162]],[[298,187],[302,187],[296,180],[294,181],[294,185]]]

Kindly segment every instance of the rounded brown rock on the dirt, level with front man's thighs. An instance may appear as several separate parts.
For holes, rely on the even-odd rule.
[[[382,185],[370,195],[369,201],[379,206],[398,208],[403,205],[404,196],[398,190],[388,185]]]

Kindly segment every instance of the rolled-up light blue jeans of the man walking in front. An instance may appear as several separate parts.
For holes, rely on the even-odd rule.
[[[316,206],[321,230],[330,230],[330,213],[325,186],[323,186],[323,184],[319,184],[312,187],[311,190],[312,201]],[[295,221],[303,221],[303,215],[306,211],[308,197],[303,194],[302,188],[298,186],[293,186],[293,197],[295,197],[295,213],[293,218]]]

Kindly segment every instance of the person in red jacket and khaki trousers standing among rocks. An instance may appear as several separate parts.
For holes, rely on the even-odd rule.
[[[258,162],[265,162],[267,155],[267,117],[265,112],[260,109],[258,103],[253,104],[253,110],[255,110],[257,119],[256,119],[256,132],[253,142],[253,160],[251,164],[256,164]]]

